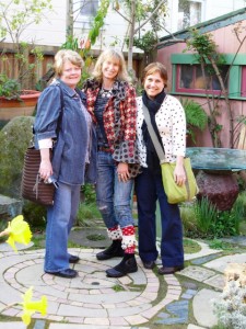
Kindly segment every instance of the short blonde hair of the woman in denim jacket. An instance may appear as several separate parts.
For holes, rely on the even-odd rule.
[[[83,59],[77,52],[70,49],[61,49],[55,56],[54,69],[57,77],[60,77],[62,75],[63,65],[67,60],[81,69],[84,66]]]

